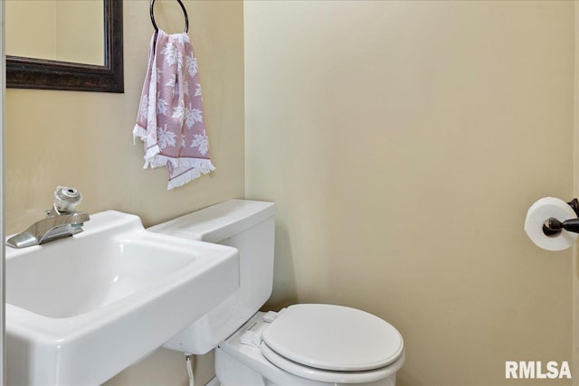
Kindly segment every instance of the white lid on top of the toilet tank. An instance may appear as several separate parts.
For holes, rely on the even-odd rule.
[[[148,228],[190,240],[219,242],[275,215],[273,202],[230,200]]]

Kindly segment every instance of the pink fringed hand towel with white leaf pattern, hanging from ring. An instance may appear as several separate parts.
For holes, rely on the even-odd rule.
[[[215,170],[203,122],[197,58],[186,33],[151,38],[147,77],[133,137],[145,143],[145,166],[166,165],[168,189]]]

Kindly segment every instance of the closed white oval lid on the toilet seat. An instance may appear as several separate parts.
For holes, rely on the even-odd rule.
[[[263,342],[293,362],[340,372],[384,367],[403,353],[392,325],[346,306],[289,306],[263,331]]]

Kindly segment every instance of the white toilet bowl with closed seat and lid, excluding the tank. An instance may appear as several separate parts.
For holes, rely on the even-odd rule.
[[[403,362],[403,339],[392,325],[331,305],[259,312],[215,350],[223,386],[394,386]]]

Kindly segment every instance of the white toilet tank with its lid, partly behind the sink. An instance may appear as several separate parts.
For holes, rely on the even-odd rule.
[[[231,200],[148,228],[148,231],[239,250],[238,290],[164,344],[166,348],[184,353],[208,353],[263,306],[271,296],[273,283],[275,212],[273,202]],[[203,294],[192,294],[195,296]]]

